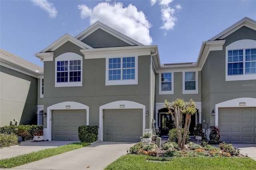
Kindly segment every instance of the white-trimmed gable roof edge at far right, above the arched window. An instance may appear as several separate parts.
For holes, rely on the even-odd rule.
[[[232,34],[242,26],[246,26],[248,28],[251,28],[253,30],[256,30],[256,21],[252,20],[251,18],[244,17],[242,20],[236,22],[232,26],[228,27],[226,30],[220,32],[218,35],[214,36],[208,41],[214,41],[214,40],[220,40],[225,38],[226,36]]]

